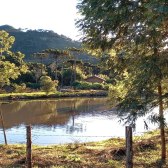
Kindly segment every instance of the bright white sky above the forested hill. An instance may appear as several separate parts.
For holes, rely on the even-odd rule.
[[[0,0],[0,25],[53,30],[79,40],[75,28],[78,0]],[[78,37],[77,37],[78,36]]]

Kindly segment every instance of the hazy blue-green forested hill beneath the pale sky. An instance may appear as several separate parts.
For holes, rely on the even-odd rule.
[[[31,54],[42,52],[44,49],[58,48],[59,50],[62,50],[64,47],[81,47],[80,42],[73,41],[64,35],[59,35],[50,30],[23,30],[15,29],[9,25],[0,26],[0,30],[5,30],[9,33],[10,36],[15,37],[15,43],[12,45],[10,50],[12,52],[22,52],[25,54],[24,61],[28,62],[35,61],[31,59]],[[94,56],[88,55],[86,53],[79,55],[78,59],[81,59],[83,62],[90,62],[93,64],[97,63],[97,59]],[[49,63],[50,61],[51,60],[48,59],[45,62]]]

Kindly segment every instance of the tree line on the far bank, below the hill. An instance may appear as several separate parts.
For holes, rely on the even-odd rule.
[[[11,92],[19,90],[19,88],[24,90],[26,87],[39,89],[43,83],[43,81],[40,83],[42,76],[48,76],[42,78],[44,81],[50,81],[50,84],[53,81],[60,87],[64,85],[72,86],[74,81],[80,81],[86,78],[87,75],[92,74],[109,79],[109,71],[102,69],[100,66],[84,63],[82,60],[77,59],[78,55],[85,52],[82,48],[70,47],[64,50],[49,48],[31,55],[32,59],[40,59],[40,63],[24,62],[24,54],[19,51],[17,53],[10,51],[14,41],[15,37],[9,36],[9,33],[4,30],[0,31],[1,92],[5,90]],[[43,64],[44,59],[48,57],[52,59],[52,62],[48,65]],[[104,76],[101,73],[104,73]]]

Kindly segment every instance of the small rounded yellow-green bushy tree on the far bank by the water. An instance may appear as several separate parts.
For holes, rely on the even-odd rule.
[[[49,76],[42,76],[40,78],[40,84],[42,86],[43,91],[48,95],[51,91],[56,91],[56,87],[58,86],[58,80],[52,81]]]

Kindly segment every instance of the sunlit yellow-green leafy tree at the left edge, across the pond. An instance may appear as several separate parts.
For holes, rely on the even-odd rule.
[[[10,84],[10,79],[17,79],[18,76],[21,75],[21,72],[26,73],[27,66],[23,62],[24,54],[21,52],[12,53],[8,51],[14,43],[15,38],[13,36],[9,37],[9,34],[2,30],[0,31],[0,88],[2,88],[5,84]],[[3,52],[7,52],[7,56],[15,60],[7,60],[7,56],[3,55]],[[16,61],[17,60],[17,61]]]

